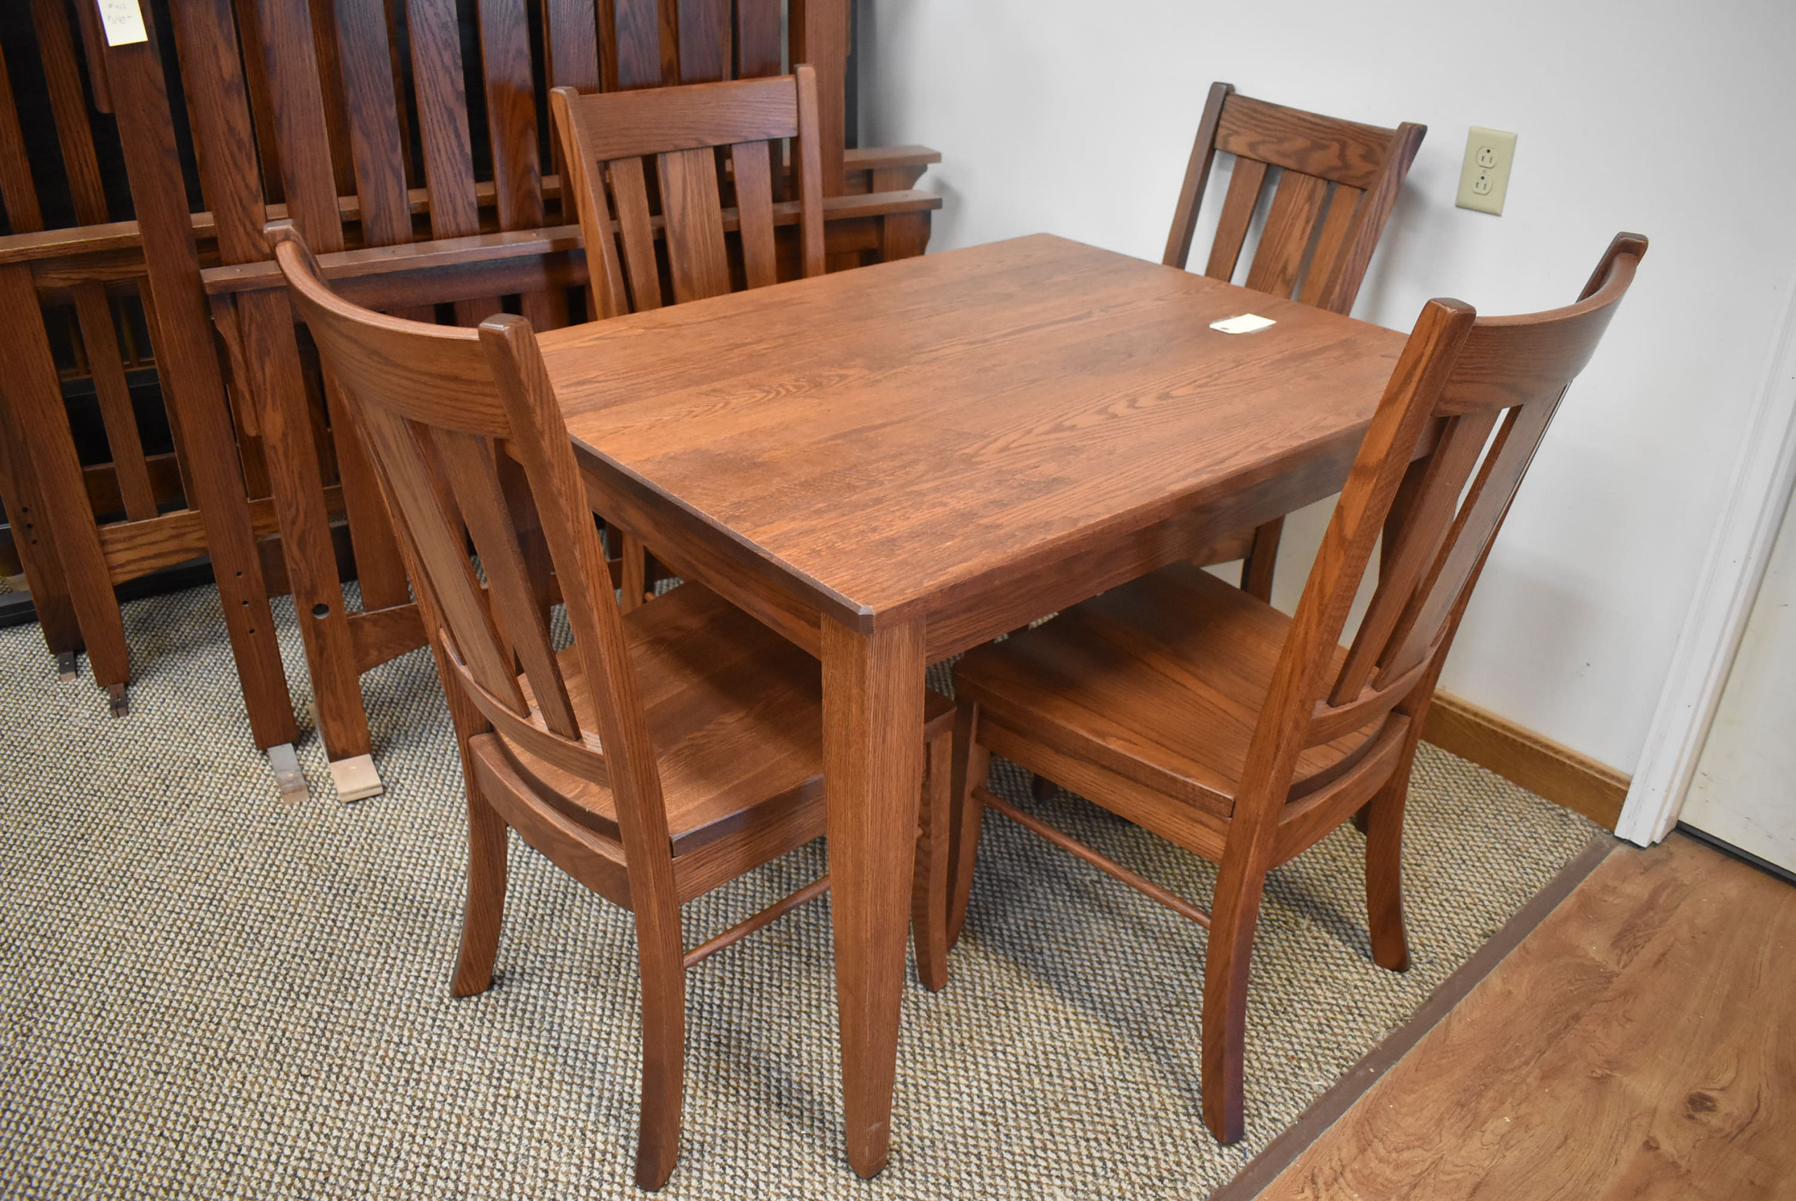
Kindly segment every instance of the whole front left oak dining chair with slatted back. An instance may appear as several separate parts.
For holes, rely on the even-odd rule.
[[[268,237],[393,512],[454,716],[469,878],[451,991],[492,980],[508,828],[629,908],[643,989],[636,1183],[659,1188],[679,1154],[686,968],[828,889],[824,876],[686,950],[684,901],[824,833],[819,664],[699,583],[621,612],[528,321],[499,314],[472,330],[359,309],[321,280],[289,223]],[[523,465],[566,603],[573,643],[560,652],[501,454]],[[946,698],[929,697],[916,736],[927,808],[941,815]],[[925,883],[946,887],[939,872]]]

